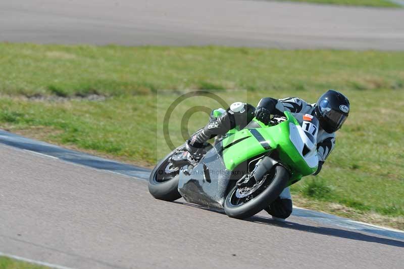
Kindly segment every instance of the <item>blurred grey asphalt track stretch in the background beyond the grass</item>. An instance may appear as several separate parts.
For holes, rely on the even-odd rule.
[[[0,41],[404,50],[404,9],[254,0],[0,0]]]

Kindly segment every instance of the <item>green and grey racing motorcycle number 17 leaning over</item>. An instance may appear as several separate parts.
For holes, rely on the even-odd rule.
[[[215,110],[215,116],[220,111]],[[316,117],[285,112],[267,126],[253,119],[207,145],[196,161],[185,144],[160,161],[148,189],[157,199],[224,209],[247,218],[268,207],[287,186],[317,170]]]

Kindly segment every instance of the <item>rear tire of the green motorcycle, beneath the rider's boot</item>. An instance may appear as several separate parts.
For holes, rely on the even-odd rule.
[[[181,148],[185,148],[185,146],[181,145],[170,152],[156,165],[153,171],[151,171],[148,181],[148,191],[156,199],[172,202],[181,198],[181,194],[178,192],[179,174],[176,174],[167,181],[159,181],[159,177],[165,172],[166,165],[169,164],[168,159]]]

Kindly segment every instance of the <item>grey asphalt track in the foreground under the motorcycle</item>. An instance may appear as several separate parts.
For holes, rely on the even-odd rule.
[[[371,269],[404,262],[402,233],[341,228],[299,211],[286,223],[265,212],[231,219],[152,198],[146,181],[118,174],[129,166],[104,159],[110,171],[103,170],[100,158],[80,162],[79,153],[4,131],[0,142],[0,253],[59,268]]]

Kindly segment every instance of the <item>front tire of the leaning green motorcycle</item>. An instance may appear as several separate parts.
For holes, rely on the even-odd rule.
[[[288,180],[289,172],[282,165],[277,165],[271,169],[267,176],[266,181],[269,182],[262,186],[265,189],[250,200],[243,201],[243,198],[237,198],[237,186],[234,186],[226,197],[224,211],[229,217],[239,219],[255,215],[279,197],[283,189],[285,189]]]

